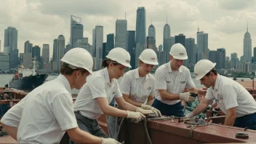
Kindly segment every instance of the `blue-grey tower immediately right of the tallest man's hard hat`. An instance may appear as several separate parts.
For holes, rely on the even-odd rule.
[[[195,57],[195,39],[187,38],[185,39],[185,49],[187,50],[188,54],[188,67],[192,68],[193,65],[196,64],[196,57]]]

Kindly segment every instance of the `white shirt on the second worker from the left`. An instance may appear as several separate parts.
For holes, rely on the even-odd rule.
[[[90,76],[89,81],[81,88],[74,103],[74,111],[80,111],[82,116],[89,119],[98,119],[103,111],[97,103],[97,97],[105,97],[108,104],[113,98],[122,97],[116,79],[109,79],[108,69],[96,71]]]

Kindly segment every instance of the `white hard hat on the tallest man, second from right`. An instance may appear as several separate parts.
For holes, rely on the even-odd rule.
[[[169,51],[169,55],[172,55],[176,60],[187,60],[187,52],[183,44],[177,43],[173,44],[171,50]]]

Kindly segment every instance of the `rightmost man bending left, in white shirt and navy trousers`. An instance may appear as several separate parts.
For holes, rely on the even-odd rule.
[[[225,76],[220,76],[216,63],[200,60],[196,63],[194,73],[196,80],[207,87],[207,95],[196,109],[186,117],[191,118],[204,111],[212,100],[216,100],[220,110],[225,113],[227,126],[256,129],[256,102],[241,84]]]

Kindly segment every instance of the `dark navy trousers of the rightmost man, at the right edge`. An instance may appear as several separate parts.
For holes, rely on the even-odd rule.
[[[256,130],[256,113],[236,118],[234,127],[241,127]]]

